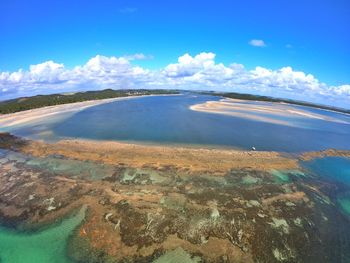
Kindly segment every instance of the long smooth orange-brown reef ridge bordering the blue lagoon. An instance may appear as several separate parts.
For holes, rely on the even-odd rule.
[[[231,169],[297,169],[297,160],[279,152],[242,151],[128,144],[116,141],[61,140],[55,143],[31,141],[9,134],[0,137],[0,147],[35,157],[61,155],[81,161],[120,164],[134,168],[174,167],[194,174],[210,172],[224,175]]]

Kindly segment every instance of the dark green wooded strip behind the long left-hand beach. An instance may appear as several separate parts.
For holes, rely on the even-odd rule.
[[[45,106],[53,106],[59,104],[67,104],[73,102],[81,102],[88,100],[101,100],[109,98],[141,96],[141,95],[157,95],[157,94],[178,94],[174,90],[112,90],[105,89],[100,91],[86,91],[67,94],[51,94],[37,95],[33,97],[23,97],[8,101],[0,102],[0,114],[13,113],[18,111],[41,108]]]

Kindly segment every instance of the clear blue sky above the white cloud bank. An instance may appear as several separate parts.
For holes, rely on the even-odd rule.
[[[148,59],[132,64],[161,70],[186,53],[213,52],[227,66],[291,67],[341,86],[350,83],[349,25],[346,0],[2,0],[0,72],[137,53]]]

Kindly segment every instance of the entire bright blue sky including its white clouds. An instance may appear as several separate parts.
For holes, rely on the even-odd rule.
[[[1,0],[0,100],[236,91],[350,108],[348,0]]]

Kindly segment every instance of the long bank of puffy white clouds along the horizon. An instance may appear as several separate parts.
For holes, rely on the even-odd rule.
[[[72,69],[46,61],[31,65],[28,70],[0,72],[0,100],[105,88],[174,88],[252,93],[350,108],[350,85],[329,86],[291,67],[247,70],[242,64],[217,63],[211,52],[185,54],[159,70],[134,65],[137,60],[148,58],[143,54],[97,55]]]

